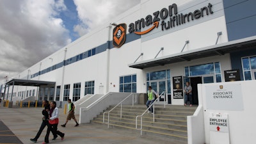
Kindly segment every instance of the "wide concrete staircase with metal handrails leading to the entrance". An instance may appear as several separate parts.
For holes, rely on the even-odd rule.
[[[109,106],[105,111],[109,111],[114,106]],[[118,127],[122,129],[136,130],[136,116],[141,115],[145,110],[144,104],[132,106],[122,106],[122,118],[120,118],[120,106],[111,111],[109,115],[109,125],[111,127]],[[155,106],[155,122],[153,122],[153,115],[145,113],[143,116],[143,134],[154,134],[178,140],[182,143],[188,141],[187,132],[187,116],[193,115],[196,106]],[[103,124],[103,113],[100,113],[92,120],[92,123]],[[105,114],[105,122],[108,122],[108,113]],[[107,127],[107,125],[106,125]],[[140,118],[138,118],[138,129],[140,129]],[[140,131],[136,130],[138,134]]]

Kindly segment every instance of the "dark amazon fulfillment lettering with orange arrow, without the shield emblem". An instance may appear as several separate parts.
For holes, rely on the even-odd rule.
[[[153,15],[147,15],[147,17],[141,18],[140,20],[135,21],[134,23],[129,24],[129,33],[136,33],[137,35],[143,35],[152,31],[154,28],[158,27],[159,21],[161,21],[161,29],[170,29],[175,26],[179,26],[181,24],[186,24],[190,20],[200,19],[200,17],[204,17],[204,15],[209,15],[213,13],[212,4],[209,3],[208,6],[204,6],[200,8],[200,10],[195,10],[194,12],[189,12],[186,14],[178,13],[177,4],[173,3],[168,6],[168,8],[163,8],[161,11],[154,12]],[[169,19],[164,21],[165,19]],[[141,28],[145,28],[145,26],[150,26],[154,24],[154,26],[148,28],[145,31],[140,31]]]

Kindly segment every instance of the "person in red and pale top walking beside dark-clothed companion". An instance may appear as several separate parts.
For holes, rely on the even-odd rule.
[[[53,135],[56,136],[52,140],[55,140],[57,138],[57,135],[61,137],[61,140],[64,140],[64,136],[65,136],[65,133],[58,131],[59,109],[56,107],[56,102],[52,101],[50,106],[51,106],[51,109],[49,113],[49,127],[47,129],[44,142],[42,144],[49,143],[50,131],[52,131]]]

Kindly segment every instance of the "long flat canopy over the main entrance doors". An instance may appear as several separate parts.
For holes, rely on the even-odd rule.
[[[171,54],[163,56],[161,58],[154,58],[151,60],[140,61],[138,63],[129,64],[132,68],[150,68],[156,66],[163,66],[170,63],[178,63],[181,61],[191,61],[198,58],[205,58],[208,56],[224,55],[230,52],[238,52],[255,49],[256,36],[234,40],[223,44],[211,45],[209,47],[203,47],[186,52],[180,52],[177,54]]]

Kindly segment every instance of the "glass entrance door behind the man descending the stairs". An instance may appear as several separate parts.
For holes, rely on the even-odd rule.
[[[158,81],[151,81],[150,85],[152,87],[152,90],[156,91],[159,95],[161,93],[166,92],[166,81],[158,80]],[[156,104],[164,104],[164,96],[165,101],[168,102],[166,95],[162,95],[159,99],[159,101],[156,102]]]

